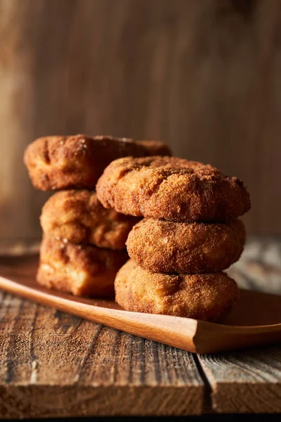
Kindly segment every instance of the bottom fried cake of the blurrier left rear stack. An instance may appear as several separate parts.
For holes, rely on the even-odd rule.
[[[75,245],[45,237],[37,281],[76,296],[112,297],[115,275],[127,259],[124,250]]]

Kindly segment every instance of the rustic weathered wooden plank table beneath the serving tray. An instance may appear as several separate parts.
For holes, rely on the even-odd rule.
[[[229,273],[281,293],[280,239]],[[281,412],[280,345],[192,355],[1,291],[0,361],[0,418]]]

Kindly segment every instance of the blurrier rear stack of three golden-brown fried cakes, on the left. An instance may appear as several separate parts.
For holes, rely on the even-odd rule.
[[[111,136],[46,136],[25,151],[35,188],[56,191],[44,205],[37,281],[74,295],[108,297],[128,260],[126,238],[139,218],[107,210],[96,181],[116,158],[169,154],[162,142]]]

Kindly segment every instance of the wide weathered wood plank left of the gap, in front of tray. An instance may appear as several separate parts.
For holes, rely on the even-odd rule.
[[[1,293],[0,417],[200,414],[192,354]]]

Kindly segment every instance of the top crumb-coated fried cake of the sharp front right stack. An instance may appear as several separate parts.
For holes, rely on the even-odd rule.
[[[115,160],[98,180],[96,191],[107,208],[174,222],[226,222],[251,207],[249,193],[237,177],[175,157]]]

